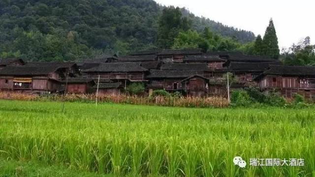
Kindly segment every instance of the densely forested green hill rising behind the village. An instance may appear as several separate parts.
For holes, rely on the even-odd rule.
[[[153,0],[0,0],[0,57],[74,60],[154,48],[163,8]],[[241,42],[255,37],[183,12],[196,31],[208,26]]]

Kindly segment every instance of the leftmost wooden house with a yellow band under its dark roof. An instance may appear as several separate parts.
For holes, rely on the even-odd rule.
[[[0,90],[56,92],[63,78],[59,67],[8,66],[0,70]]]

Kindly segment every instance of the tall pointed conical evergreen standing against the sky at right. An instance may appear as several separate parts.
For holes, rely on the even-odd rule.
[[[274,59],[278,59],[280,55],[279,53],[280,50],[276,29],[273,20],[270,19],[269,26],[267,27],[263,38],[262,54],[272,57]]]

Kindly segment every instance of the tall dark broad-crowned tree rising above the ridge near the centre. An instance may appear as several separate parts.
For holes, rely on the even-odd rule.
[[[158,45],[161,48],[170,48],[174,44],[174,38],[180,32],[190,29],[190,22],[186,17],[182,17],[179,7],[173,6],[163,9],[158,21]]]

